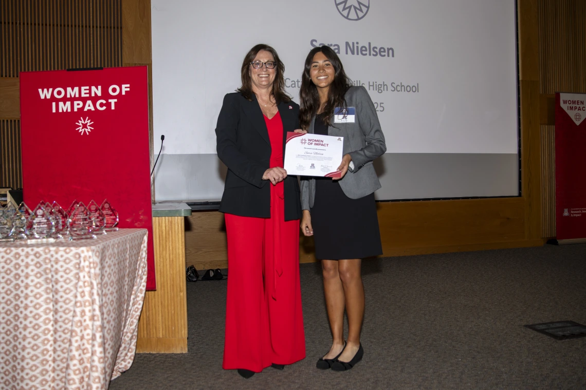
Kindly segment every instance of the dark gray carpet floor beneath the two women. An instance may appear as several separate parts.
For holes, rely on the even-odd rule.
[[[110,389],[585,389],[586,337],[523,325],[586,325],[586,245],[392,257],[363,263],[364,358],[316,360],[331,335],[319,264],[301,265],[307,357],[250,379],[222,370],[226,281],[188,284],[187,354],[138,354]]]

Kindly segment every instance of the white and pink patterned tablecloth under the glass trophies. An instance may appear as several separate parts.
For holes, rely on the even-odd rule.
[[[134,360],[146,284],[146,229],[0,243],[0,388],[108,388]]]

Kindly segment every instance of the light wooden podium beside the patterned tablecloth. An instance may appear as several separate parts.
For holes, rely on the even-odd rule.
[[[186,203],[155,203],[152,229],[156,291],[147,291],[138,322],[137,353],[187,352]]]

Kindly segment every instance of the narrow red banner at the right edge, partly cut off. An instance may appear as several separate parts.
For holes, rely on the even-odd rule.
[[[586,237],[586,94],[556,94],[556,238]]]

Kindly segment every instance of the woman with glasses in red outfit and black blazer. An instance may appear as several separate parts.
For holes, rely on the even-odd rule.
[[[282,168],[299,106],[285,93],[284,70],[272,47],[248,51],[242,86],[224,97],[216,127],[228,168],[220,205],[230,268],[223,368],[244,378],[305,358],[299,184]]]

